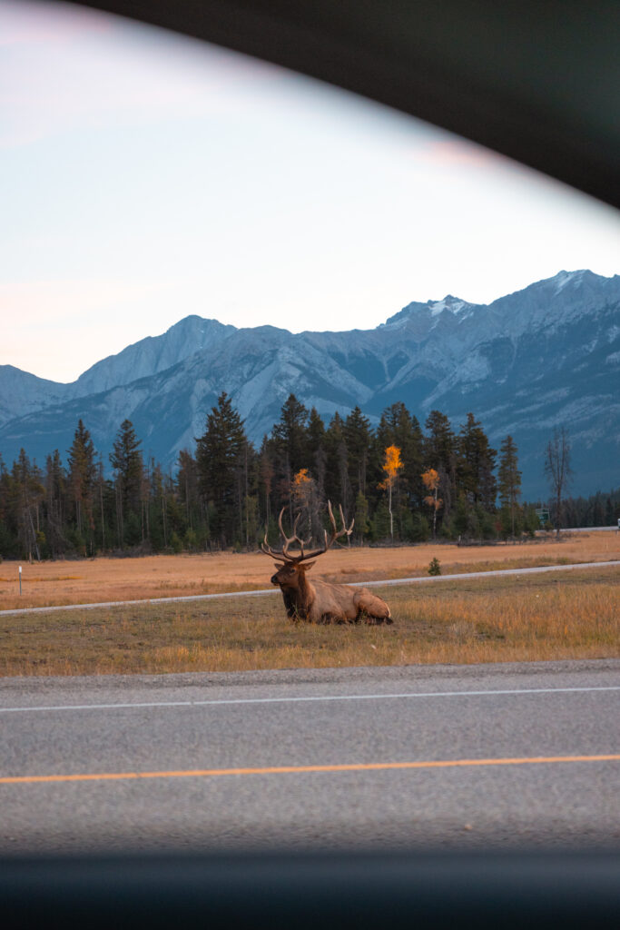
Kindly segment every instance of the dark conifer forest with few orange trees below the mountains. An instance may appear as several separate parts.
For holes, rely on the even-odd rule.
[[[455,427],[433,410],[422,426],[398,403],[375,429],[359,407],[325,426],[291,394],[256,448],[222,393],[174,474],[145,460],[128,419],[108,462],[81,419],[71,448],[44,466],[24,449],[10,467],[0,458],[0,557],[254,550],[266,528],[278,542],[283,508],[285,525],[301,512],[299,534],[320,538],[327,500],[355,518],[357,545],[519,538],[539,527],[521,500],[512,438],[492,448],[472,413]],[[568,499],[562,522],[611,525],[619,512],[620,492]]]

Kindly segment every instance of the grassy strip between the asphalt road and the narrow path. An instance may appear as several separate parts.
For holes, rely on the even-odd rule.
[[[376,589],[391,627],[294,626],[278,592],[0,618],[0,675],[249,671],[609,658],[620,571],[601,567]]]

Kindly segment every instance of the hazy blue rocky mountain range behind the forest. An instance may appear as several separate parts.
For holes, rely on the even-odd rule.
[[[575,494],[620,485],[620,275],[560,272],[493,303],[410,303],[370,330],[292,334],[188,316],[93,365],[72,384],[0,366],[0,452],[61,458],[82,418],[108,453],[131,419],[145,455],[174,468],[226,391],[259,443],[290,393],[323,419],[359,405],[376,423],[402,401],[424,425],[442,410],[457,430],[472,411],[498,447],[520,452],[526,498],[547,496],[544,448],[564,424]]]

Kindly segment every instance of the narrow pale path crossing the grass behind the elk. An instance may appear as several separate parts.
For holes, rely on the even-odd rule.
[[[576,562],[573,565],[537,565],[535,568],[496,568],[489,572],[462,572],[459,575],[421,575],[416,578],[389,578],[382,581],[349,581],[350,588],[386,588],[399,584],[422,584],[423,582],[463,581],[466,578],[493,578],[497,575],[535,575],[541,572],[566,572],[574,568],[608,568],[620,565],[620,560],[609,562]],[[141,601],[105,601],[100,604],[55,604],[50,607],[16,607],[0,610],[0,617],[16,614],[47,614],[59,610],[93,610],[96,607],[125,607],[136,604],[179,604],[183,601],[217,601],[225,597],[264,597],[279,594],[279,588],[263,588],[259,591],[222,591],[219,594],[188,594],[183,597],[154,597]]]

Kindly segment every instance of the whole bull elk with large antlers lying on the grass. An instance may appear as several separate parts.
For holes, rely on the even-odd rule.
[[[278,560],[276,562],[278,571],[271,577],[271,584],[280,586],[288,617],[296,622],[305,620],[308,623],[359,623],[361,620],[369,624],[392,623],[388,604],[366,588],[351,588],[346,584],[310,581],[306,578],[306,572],[314,565],[314,562],[308,560],[323,555],[323,552],[326,552],[336,539],[343,536],[349,537],[353,529],[354,521],[351,521],[351,525],[347,527],[342,507],[339,508],[341,529],[336,528],[331,503],[328,503],[327,509],[332,532],[328,537],[327,530],[324,531],[324,545],[321,549],[305,551],[304,547],[308,545],[308,542],[304,542],[297,536],[299,514],[293,525],[293,535],[286,536],[282,525],[284,508],[278,519],[280,532],[284,538],[280,551],[271,549],[267,542],[267,533],[265,533],[261,549]],[[294,544],[298,549],[297,555],[292,555],[289,551]]]

